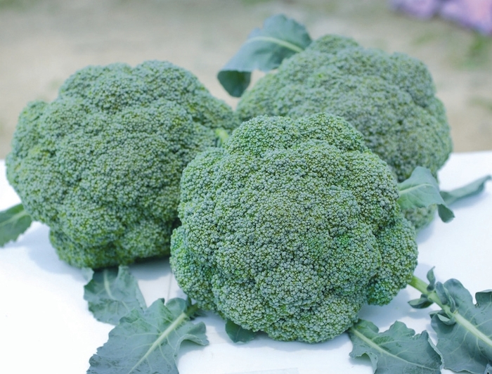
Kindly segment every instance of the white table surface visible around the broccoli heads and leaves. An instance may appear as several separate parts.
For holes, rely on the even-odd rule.
[[[492,151],[451,155],[440,172],[441,188],[449,190],[492,174]],[[0,210],[20,200],[5,179],[0,161]],[[472,292],[492,288],[492,182],[481,195],[453,205],[455,219],[439,219],[418,236],[415,274],[425,279],[436,266],[436,278],[457,278]],[[148,305],[164,297],[184,297],[169,262],[131,266]],[[89,358],[108,338],[112,326],[96,321],[83,299],[82,272],[61,262],[48,241],[48,228],[34,223],[16,243],[0,248],[0,373],[85,373]],[[407,301],[419,297],[408,287],[387,306],[364,307],[361,318],[387,330],[397,319],[420,333],[430,327],[430,309],[417,310]],[[179,355],[181,374],[318,374],[373,373],[367,359],[350,359],[347,334],[329,342],[276,342],[261,335],[247,344],[233,344],[224,322],[214,314],[199,318],[207,325],[210,344],[185,343]],[[443,373],[451,371],[443,370]]]

